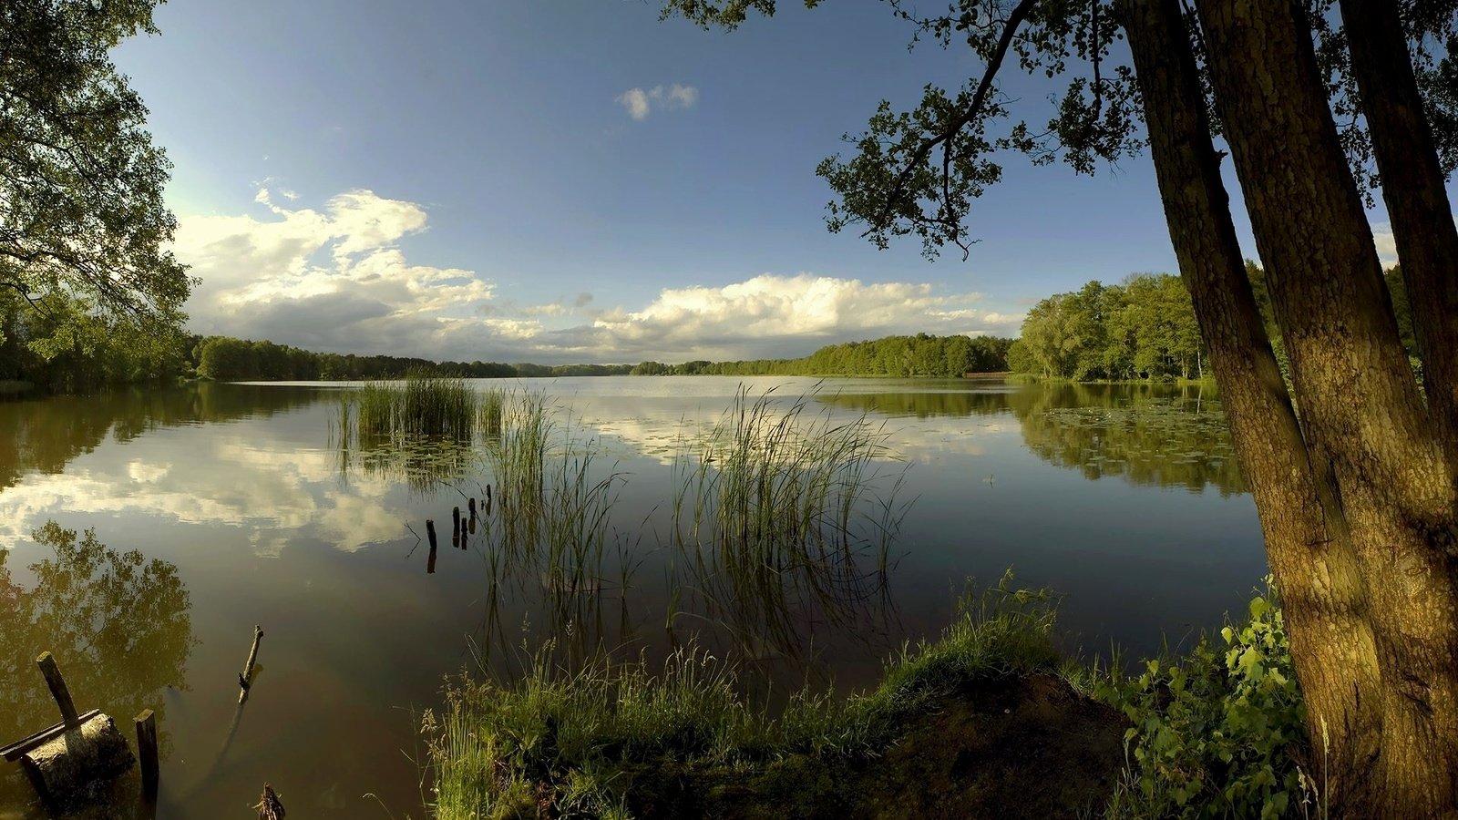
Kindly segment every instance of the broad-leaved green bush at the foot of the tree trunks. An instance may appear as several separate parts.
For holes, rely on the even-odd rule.
[[[1306,800],[1298,760],[1306,708],[1292,667],[1271,579],[1248,620],[1201,636],[1180,660],[1150,660],[1137,677],[1114,674],[1096,695],[1117,705],[1128,770],[1111,817],[1283,817]]]

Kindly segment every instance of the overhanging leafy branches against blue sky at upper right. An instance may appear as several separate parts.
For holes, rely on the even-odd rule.
[[[819,1],[805,0],[805,6]],[[1117,163],[1143,150],[1139,88],[1128,51],[1118,45],[1124,36],[1118,0],[948,0],[929,16],[904,0],[884,1],[910,25],[913,45],[923,39],[942,48],[964,44],[984,69],[955,90],[926,85],[911,111],[898,112],[882,101],[865,131],[843,136],[853,156],[830,156],[816,168],[838,197],[827,206],[833,232],[859,226],[878,248],[913,235],[927,258],[945,245],[961,248],[965,258],[975,241],[967,229],[971,203],[1002,178],[999,155],[1024,153],[1035,163],[1061,159],[1077,174],[1094,174],[1101,162]],[[1343,146],[1359,182],[1371,191],[1378,179],[1336,0],[1305,3]],[[1458,0],[1401,0],[1398,10],[1443,168],[1451,171],[1458,166]],[[751,13],[774,12],[776,0],[665,0],[662,16],[733,29]],[[1203,54],[1197,31],[1190,26],[1193,47]],[[997,85],[1009,58],[1028,74],[1067,83],[1045,123],[1010,120],[1015,101]]]

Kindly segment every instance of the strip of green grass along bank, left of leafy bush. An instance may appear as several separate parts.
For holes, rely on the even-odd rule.
[[[792,754],[866,757],[939,696],[971,680],[1056,673],[1056,598],[1013,589],[1010,576],[961,601],[933,642],[908,643],[875,690],[837,699],[806,689],[777,715],[748,702],[733,661],[688,645],[653,665],[599,655],[576,670],[548,643],[515,683],[453,681],[423,732],[446,820],[625,817],[627,789],[662,762],[745,770]]]

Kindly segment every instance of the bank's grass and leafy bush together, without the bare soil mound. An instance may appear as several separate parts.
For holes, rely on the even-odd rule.
[[[548,645],[519,680],[452,681],[443,712],[426,713],[432,808],[443,820],[535,817],[539,807],[628,817],[653,804],[655,789],[729,782],[773,782],[815,800],[838,788],[825,772],[850,760],[876,766],[908,724],[935,721],[948,695],[1047,674],[1130,721],[1124,775],[1091,816],[1325,817],[1322,760],[1305,737],[1271,591],[1219,638],[1133,674],[1060,655],[1057,601],[1013,588],[1007,575],[964,595],[936,641],[904,645],[870,692],[840,699],[806,687],[777,713],[742,695],[732,660],[694,645],[660,664],[599,655],[572,670],[551,661]]]

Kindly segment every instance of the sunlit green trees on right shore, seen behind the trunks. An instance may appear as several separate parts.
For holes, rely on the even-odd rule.
[[[1277,362],[1286,371],[1266,271],[1247,261],[1245,273]],[[1385,279],[1403,344],[1408,356],[1416,356],[1400,268],[1388,270]],[[1123,285],[1089,282],[1079,290],[1042,299],[1028,311],[1022,337],[1007,352],[1007,363],[1018,374],[1075,381],[1198,379],[1209,375],[1190,292],[1178,276],[1168,273],[1130,276]]]

